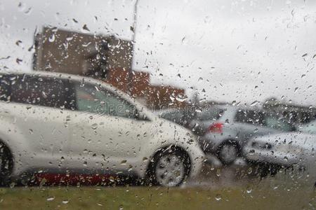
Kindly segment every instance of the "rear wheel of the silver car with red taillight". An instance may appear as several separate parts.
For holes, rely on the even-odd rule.
[[[239,146],[234,142],[225,142],[217,151],[217,156],[223,165],[232,165],[233,162],[239,157]]]

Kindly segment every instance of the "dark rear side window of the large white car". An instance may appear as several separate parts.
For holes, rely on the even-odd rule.
[[[11,102],[64,108],[67,104],[64,83],[60,78],[12,76]]]

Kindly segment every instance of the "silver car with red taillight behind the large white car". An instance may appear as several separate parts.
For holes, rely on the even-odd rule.
[[[248,139],[296,130],[286,119],[254,106],[215,106],[213,113],[218,114],[213,115],[215,120],[200,125],[200,132],[205,131],[199,144],[206,153],[215,153],[225,165],[242,155]]]

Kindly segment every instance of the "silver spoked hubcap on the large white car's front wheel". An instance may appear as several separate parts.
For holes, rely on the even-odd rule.
[[[156,179],[162,186],[178,186],[185,176],[183,160],[177,155],[164,155],[156,165]]]

